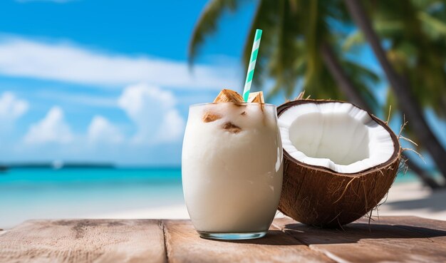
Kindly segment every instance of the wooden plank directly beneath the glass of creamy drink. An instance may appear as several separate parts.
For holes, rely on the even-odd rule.
[[[190,221],[163,224],[169,262],[333,262],[275,227],[264,238],[230,242],[200,238]]]

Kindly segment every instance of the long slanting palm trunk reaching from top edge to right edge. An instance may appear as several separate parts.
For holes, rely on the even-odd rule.
[[[358,0],[344,0],[349,13],[358,27],[363,31],[365,38],[370,43],[370,46],[375,53],[376,58],[380,62],[381,67],[387,76],[390,86],[398,96],[398,105],[403,113],[408,118],[409,125],[420,140],[420,143],[426,148],[427,152],[432,156],[438,170],[446,178],[446,150],[442,147],[440,142],[435,137],[430,127],[427,125],[425,117],[422,113],[420,105],[417,100],[413,98],[410,91],[410,85],[407,79],[401,77],[390,65],[385,51],[380,44],[380,40],[373,31],[370,20],[365,14],[363,6]]]

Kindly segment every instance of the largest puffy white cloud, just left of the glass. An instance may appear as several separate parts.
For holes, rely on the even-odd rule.
[[[175,108],[175,96],[155,86],[141,83],[128,86],[118,105],[138,126],[136,143],[162,143],[180,139],[185,120]]]

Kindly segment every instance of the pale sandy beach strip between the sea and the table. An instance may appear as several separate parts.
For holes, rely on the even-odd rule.
[[[390,215],[410,215],[435,220],[446,220],[446,190],[431,192],[423,187],[421,182],[403,182],[390,188],[388,197],[373,212],[373,217]],[[384,200],[383,200],[384,201]],[[280,212],[276,217],[283,217]],[[119,218],[119,219],[189,219],[185,205],[171,205],[165,207],[148,207],[136,210],[116,211],[100,215],[90,215],[90,218]]]

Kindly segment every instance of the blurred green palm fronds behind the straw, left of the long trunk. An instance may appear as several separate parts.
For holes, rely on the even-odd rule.
[[[192,35],[191,63],[205,36],[216,31],[222,12],[235,11],[238,4],[236,0],[209,1]],[[271,96],[284,91],[289,97],[296,83],[302,81],[306,91],[316,98],[347,98],[363,108],[376,109],[368,85],[376,83],[378,76],[338,56],[338,38],[342,35],[333,32],[327,23],[330,20],[350,22],[346,9],[332,1],[260,1],[244,48],[245,66],[251,38],[255,29],[261,28],[268,33],[262,38],[256,76],[266,76],[259,73],[266,72],[269,78],[274,78]],[[256,78],[258,84],[261,81]]]

